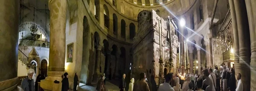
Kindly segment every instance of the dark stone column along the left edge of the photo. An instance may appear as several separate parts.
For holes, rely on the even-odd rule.
[[[17,88],[19,0],[0,0],[0,91]]]

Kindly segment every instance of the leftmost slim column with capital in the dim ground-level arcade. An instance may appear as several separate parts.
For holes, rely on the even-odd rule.
[[[98,82],[99,78],[100,78],[100,63],[101,63],[101,55],[102,55],[102,48],[103,46],[101,44],[99,44],[97,46],[98,48],[96,49],[96,63],[95,63],[95,66],[96,66],[96,69],[95,69],[95,72],[93,74],[93,82]]]

